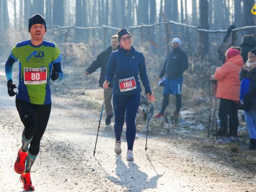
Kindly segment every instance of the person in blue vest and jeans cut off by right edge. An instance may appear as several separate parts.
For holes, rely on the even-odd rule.
[[[248,60],[240,72],[240,102],[250,136],[249,149],[256,150],[256,49],[250,50]]]

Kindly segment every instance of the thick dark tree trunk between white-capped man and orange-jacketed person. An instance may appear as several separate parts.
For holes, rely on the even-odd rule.
[[[208,0],[200,0],[200,24],[203,29],[209,29],[209,4]],[[199,53],[202,56],[209,54],[209,34],[200,32]]]

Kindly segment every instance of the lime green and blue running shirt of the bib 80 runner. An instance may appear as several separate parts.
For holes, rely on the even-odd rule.
[[[50,76],[53,65],[59,64],[61,54],[59,48],[52,42],[43,41],[39,46],[31,44],[30,40],[18,42],[10,53],[10,58],[19,60],[19,84],[17,99],[46,105],[51,103]],[[62,79],[62,71],[61,79]],[[7,79],[11,79],[12,66],[7,71]],[[60,80],[61,80],[60,79]]]

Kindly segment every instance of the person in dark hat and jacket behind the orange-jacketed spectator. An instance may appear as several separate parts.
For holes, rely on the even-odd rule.
[[[240,45],[242,51],[241,55],[243,57],[244,63],[248,60],[248,53],[256,47],[256,39],[253,34],[247,34],[243,36],[242,44]]]

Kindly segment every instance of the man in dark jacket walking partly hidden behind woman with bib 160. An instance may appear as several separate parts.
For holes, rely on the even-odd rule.
[[[84,72],[85,75],[89,75],[101,67],[101,75],[99,79],[100,87],[102,87],[103,82],[105,81],[105,73],[106,73],[106,68],[110,58],[110,54],[112,51],[117,50],[118,45],[119,45],[118,36],[113,35],[111,37],[111,46],[108,47],[107,50],[104,50],[103,52],[101,52],[97,56],[96,60],[91,63],[91,66],[88,67]],[[106,125],[110,125],[111,118],[113,117],[111,100],[112,100],[112,87],[110,87],[109,89],[106,89],[106,95],[105,95],[105,109],[107,114],[107,117],[105,120]]]

